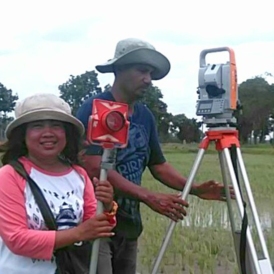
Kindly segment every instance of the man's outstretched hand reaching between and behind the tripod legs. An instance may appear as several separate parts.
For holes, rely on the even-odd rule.
[[[235,199],[233,186],[229,186],[229,191],[231,199]],[[194,194],[205,200],[226,201],[225,186],[214,180],[197,185]]]

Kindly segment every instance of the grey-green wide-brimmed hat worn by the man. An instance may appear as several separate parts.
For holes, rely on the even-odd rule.
[[[146,41],[128,38],[118,42],[114,58],[107,63],[96,66],[99,72],[114,72],[115,66],[128,64],[145,64],[153,67],[152,80],[163,78],[170,70],[168,59],[156,51],[155,48]]]

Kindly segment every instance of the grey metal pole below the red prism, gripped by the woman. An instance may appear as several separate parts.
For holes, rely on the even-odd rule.
[[[104,163],[108,164],[109,159],[113,153],[113,149],[105,148],[103,150],[102,161],[101,161],[101,170],[100,170],[100,181],[107,180],[108,177],[108,168],[103,168]],[[108,167],[108,166],[106,166]],[[104,211],[104,204],[101,201],[97,201],[97,209],[96,215],[103,213]],[[92,253],[91,253],[91,260],[90,260],[90,271],[89,274],[96,274],[97,271],[97,264],[98,264],[98,255],[99,255],[99,246],[100,246],[100,238],[94,240],[92,244]]]

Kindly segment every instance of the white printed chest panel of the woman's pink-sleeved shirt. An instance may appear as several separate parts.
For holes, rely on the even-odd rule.
[[[84,183],[75,170],[69,173],[67,177],[63,176],[62,178],[32,170],[31,177],[42,190],[55,217],[58,230],[75,227],[82,221]],[[76,183],[79,180],[81,183]],[[76,185],[78,185],[77,188],[75,187]],[[66,194],[64,195],[64,193]],[[47,230],[42,214],[28,184],[26,184],[25,188],[25,201],[28,227],[35,230]],[[38,259],[31,260],[32,263],[44,261]],[[54,258],[51,259],[51,263],[55,263]]]

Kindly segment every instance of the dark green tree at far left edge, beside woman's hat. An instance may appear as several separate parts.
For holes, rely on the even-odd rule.
[[[13,120],[8,114],[14,110],[17,94],[12,95],[12,90],[0,83],[0,139],[4,139],[4,132],[9,122]]]

